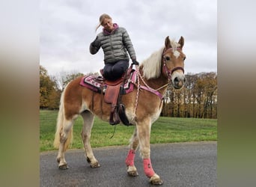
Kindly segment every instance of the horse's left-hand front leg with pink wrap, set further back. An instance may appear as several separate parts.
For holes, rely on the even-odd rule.
[[[135,129],[133,132],[133,135],[129,144],[130,146],[129,152],[127,154],[127,159],[125,160],[125,163],[127,164],[127,174],[132,177],[138,176],[137,168],[135,168],[135,165],[134,165],[135,151],[138,147],[138,136],[136,131],[137,129]]]

